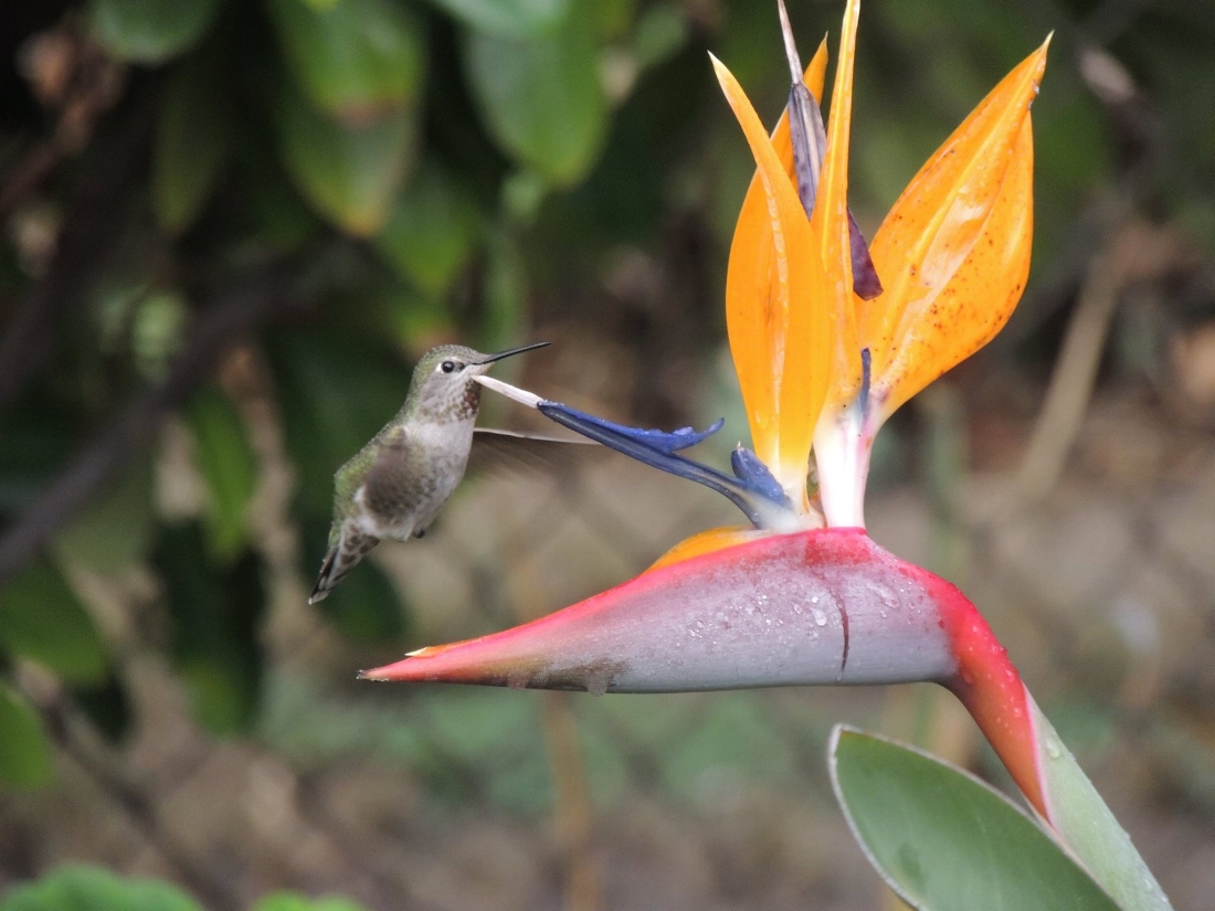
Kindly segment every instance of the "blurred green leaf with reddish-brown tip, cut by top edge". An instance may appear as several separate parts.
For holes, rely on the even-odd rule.
[[[416,106],[425,49],[405,5],[271,0],[270,11],[292,73],[326,113],[360,124]]]

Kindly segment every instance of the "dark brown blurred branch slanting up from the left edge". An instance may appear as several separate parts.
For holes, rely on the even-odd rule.
[[[288,277],[287,268],[272,270],[199,313],[168,378],[94,437],[0,538],[0,584],[32,560],[135,453],[152,443],[169,412],[207,378],[237,339],[272,317],[303,306],[295,293],[283,290],[290,288]]]

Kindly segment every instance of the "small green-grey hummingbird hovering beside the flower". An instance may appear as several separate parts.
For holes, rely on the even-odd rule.
[[[422,356],[405,404],[369,443],[334,475],[329,550],[309,604],[316,604],[383,538],[420,538],[459,485],[474,438],[501,454],[565,441],[477,428],[481,386],[476,377],[505,357],[549,343],[482,355],[441,345]]]

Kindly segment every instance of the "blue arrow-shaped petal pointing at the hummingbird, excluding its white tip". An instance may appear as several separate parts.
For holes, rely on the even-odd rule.
[[[667,432],[615,424],[604,418],[580,412],[561,402],[541,401],[536,408],[550,420],[616,449],[616,452],[660,471],[686,477],[689,481],[702,483],[717,491],[741,509],[757,528],[772,527],[774,516],[792,511],[785,491],[776,483],[759,457],[750,449],[740,447],[735,451],[735,453],[746,453],[744,455],[735,454],[731,459],[738,477],[731,477],[723,471],[678,454],[680,449],[695,446],[720,430],[725,423],[724,419],[701,431],[682,428]]]

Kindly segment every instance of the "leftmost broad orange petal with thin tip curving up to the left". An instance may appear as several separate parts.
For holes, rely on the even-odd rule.
[[[806,496],[810,441],[830,370],[827,311],[814,294],[823,282],[818,244],[789,170],[742,87],[716,57],[713,67],[756,158],[764,202],[744,206],[730,247],[730,350],[756,452],[797,503]]]

